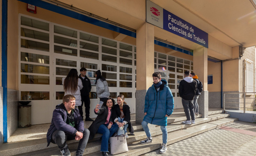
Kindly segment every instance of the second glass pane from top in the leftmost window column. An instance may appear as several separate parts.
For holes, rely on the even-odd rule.
[[[49,34],[48,33],[31,30],[31,29],[26,29],[26,28],[20,28],[20,29],[21,29],[21,31],[20,31],[21,36],[34,38],[34,39],[40,39],[40,40],[49,42]]]

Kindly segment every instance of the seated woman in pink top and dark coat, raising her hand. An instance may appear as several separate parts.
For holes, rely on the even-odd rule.
[[[101,140],[101,148],[103,156],[108,156],[109,138],[117,131],[118,125],[112,120],[112,107],[115,105],[115,100],[111,97],[107,98],[99,109],[99,104],[96,105],[94,113],[97,118],[92,122],[88,128],[90,130],[90,139],[93,139],[96,133],[103,134]]]

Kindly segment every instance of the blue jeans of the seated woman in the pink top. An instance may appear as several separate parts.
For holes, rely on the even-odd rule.
[[[101,140],[100,152],[109,152],[109,138],[117,131],[118,125],[112,124],[111,128],[108,129],[109,124],[102,124],[99,126],[97,133],[103,134]]]

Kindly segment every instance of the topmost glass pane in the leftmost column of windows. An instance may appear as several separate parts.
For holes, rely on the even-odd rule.
[[[49,31],[49,23],[21,16],[21,25]]]

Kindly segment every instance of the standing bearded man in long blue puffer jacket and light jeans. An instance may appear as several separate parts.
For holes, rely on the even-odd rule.
[[[152,137],[147,126],[148,123],[159,125],[162,130],[163,143],[159,153],[165,153],[167,150],[167,117],[173,112],[173,96],[167,81],[161,80],[159,72],[153,73],[153,85],[149,87],[145,97],[144,119],[141,123],[147,138],[141,141],[141,144],[152,143]]]

